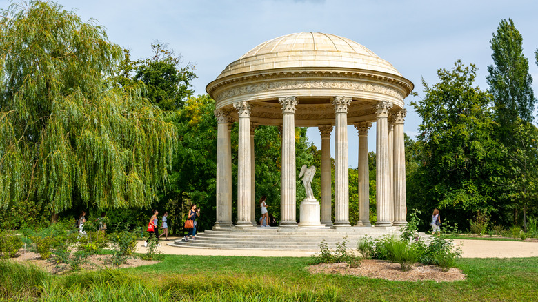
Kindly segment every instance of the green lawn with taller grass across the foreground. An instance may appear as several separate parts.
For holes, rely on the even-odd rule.
[[[0,261],[0,296],[70,302],[538,300],[538,258],[459,259],[457,266],[468,279],[451,283],[314,275],[306,270],[310,261],[168,255],[155,265],[67,276],[43,275],[34,268]],[[19,285],[6,288],[8,283]]]

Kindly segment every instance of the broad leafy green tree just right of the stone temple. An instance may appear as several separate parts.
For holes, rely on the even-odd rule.
[[[491,96],[473,86],[475,74],[475,66],[457,61],[452,70],[437,71],[439,83],[423,81],[426,97],[411,103],[422,118],[417,176],[424,196],[422,204],[410,206],[428,209],[424,212],[441,208],[445,217],[461,223],[467,222],[462,211],[493,210],[490,177],[498,174],[500,157],[499,144],[490,134]]]

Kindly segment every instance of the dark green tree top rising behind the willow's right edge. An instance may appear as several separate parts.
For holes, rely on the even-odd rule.
[[[168,50],[168,44],[152,44],[153,56],[135,63],[135,80],[146,84],[143,96],[161,110],[178,110],[192,96],[190,81],[196,77],[194,67],[181,66],[181,54]]]

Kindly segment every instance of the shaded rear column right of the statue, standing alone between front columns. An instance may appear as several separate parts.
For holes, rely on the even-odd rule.
[[[368,129],[372,123],[356,123],[359,132],[359,221],[357,226],[371,226],[370,224],[370,172],[368,170]]]

